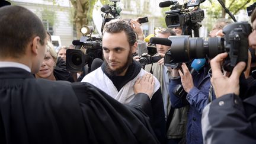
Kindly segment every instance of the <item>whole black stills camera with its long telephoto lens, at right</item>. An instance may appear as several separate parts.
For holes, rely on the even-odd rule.
[[[238,62],[248,60],[248,36],[251,25],[248,23],[232,23],[223,28],[225,38],[212,37],[203,39],[190,36],[170,36],[171,49],[165,54],[164,63],[188,62],[192,59],[204,57],[213,58],[219,53],[228,52],[223,68],[232,71]]]

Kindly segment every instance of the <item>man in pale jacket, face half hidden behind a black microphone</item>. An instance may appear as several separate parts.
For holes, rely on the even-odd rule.
[[[174,31],[169,29],[161,29],[156,37],[168,38],[175,36]],[[162,99],[164,101],[165,119],[167,120],[167,138],[168,143],[178,143],[185,136],[185,124],[187,123],[187,108],[173,108],[171,107],[168,85],[171,76],[171,71],[164,66],[164,55],[170,46],[156,44],[157,54],[162,57],[156,63],[145,66],[145,71],[152,72],[158,79],[162,91]]]

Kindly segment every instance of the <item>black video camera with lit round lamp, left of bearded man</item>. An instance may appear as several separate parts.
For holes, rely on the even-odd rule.
[[[94,28],[92,26],[82,26],[82,37],[80,40],[73,40],[75,49],[66,51],[66,69],[71,72],[81,72],[85,65],[91,68],[92,60],[95,58],[103,59],[102,39],[100,37],[92,37]],[[87,35],[89,36],[87,37]],[[86,49],[85,54],[82,49]]]

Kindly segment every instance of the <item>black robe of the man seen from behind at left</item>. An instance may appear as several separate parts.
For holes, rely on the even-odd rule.
[[[88,83],[0,68],[0,143],[158,143],[150,108],[145,94],[123,105]]]

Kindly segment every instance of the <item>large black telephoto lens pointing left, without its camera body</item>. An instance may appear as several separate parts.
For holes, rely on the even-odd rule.
[[[189,62],[192,59],[200,59],[204,57],[215,57],[218,53],[225,50],[224,39],[213,37],[203,39],[201,37],[190,36],[170,36],[172,41],[171,49],[169,49],[169,62]],[[165,56],[166,57],[166,56]]]

